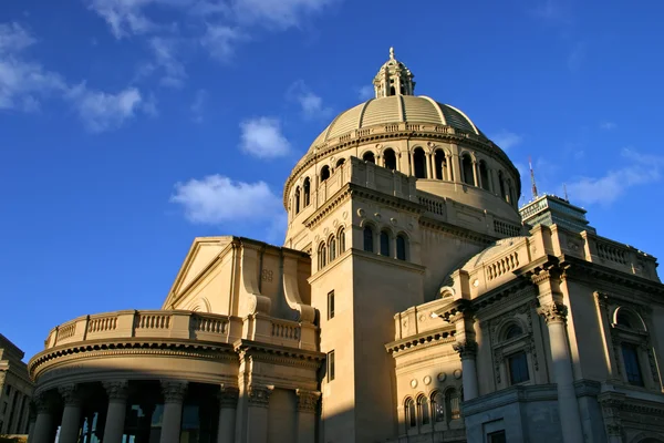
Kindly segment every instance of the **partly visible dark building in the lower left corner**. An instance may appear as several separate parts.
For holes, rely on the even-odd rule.
[[[23,351],[0,334],[0,435],[28,434],[34,383],[23,357]]]

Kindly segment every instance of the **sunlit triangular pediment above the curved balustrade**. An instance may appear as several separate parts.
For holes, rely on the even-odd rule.
[[[172,300],[178,298],[181,291],[204,274],[219,254],[234,240],[232,236],[197,237],[180,267],[163,309],[168,309]]]

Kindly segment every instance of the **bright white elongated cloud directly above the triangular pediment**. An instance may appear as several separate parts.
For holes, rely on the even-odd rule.
[[[264,182],[234,182],[221,175],[177,183],[170,202],[184,207],[189,222],[207,225],[273,222],[282,210],[281,199]]]

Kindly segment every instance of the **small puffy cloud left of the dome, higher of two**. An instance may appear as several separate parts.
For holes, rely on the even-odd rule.
[[[274,158],[288,155],[291,146],[281,134],[278,119],[258,117],[240,123],[240,147],[259,158]]]

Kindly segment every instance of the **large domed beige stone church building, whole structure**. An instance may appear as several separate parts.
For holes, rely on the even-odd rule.
[[[391,51],[297,163],[283,247],[197,238],[160,310],[54,328],[32,441],[664,442],[656,260],[567,200],[519,213],[413,79]]]

